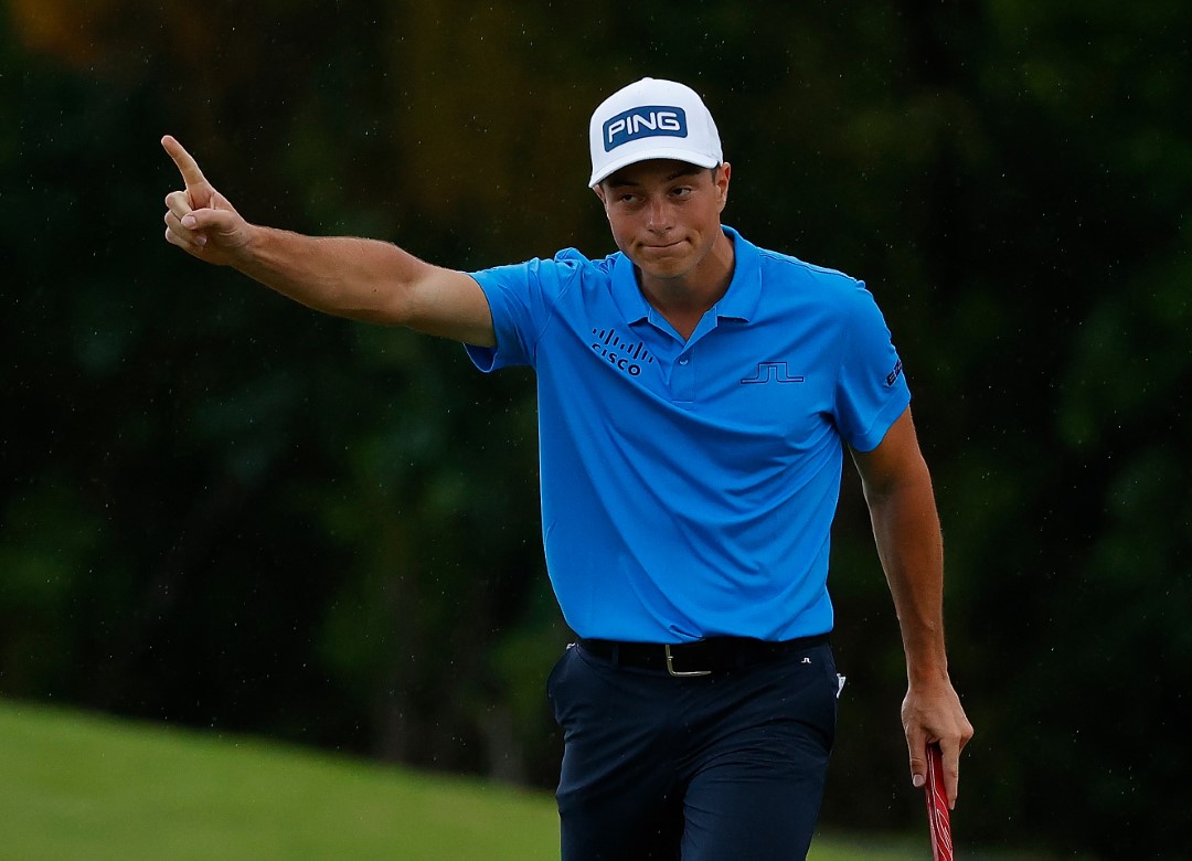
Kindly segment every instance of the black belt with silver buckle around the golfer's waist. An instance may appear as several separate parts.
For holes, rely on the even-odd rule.
[[[760,640],[750,637],[709,637],[694,643],[625,643],[610,639],[581,639],[589,655],[619,667],[666,670],[675,677],[707,676],[745,669],[755,664],[827,643],[827,634],[788,640]]]

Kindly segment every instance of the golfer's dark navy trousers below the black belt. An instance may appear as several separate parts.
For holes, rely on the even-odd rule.
[[[547,680],[563,860],[806,857],[838,692],[827,644],[690,679],[570,646]]]

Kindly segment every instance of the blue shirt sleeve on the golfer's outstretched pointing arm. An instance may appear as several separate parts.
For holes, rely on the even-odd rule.
[[[489,301],[497,336],[496,347],[466,345],[472,364],[485,373],[514,365],[533,367],[539,337],[576,272],[575,261],[560,253],[552,260],[535,258],[470,273]]]

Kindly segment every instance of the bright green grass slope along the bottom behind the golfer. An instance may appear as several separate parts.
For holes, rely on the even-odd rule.
[[[809,857],[929,851],[822,838]],[[554,857],[548,793],[0,701],[0,859]]]

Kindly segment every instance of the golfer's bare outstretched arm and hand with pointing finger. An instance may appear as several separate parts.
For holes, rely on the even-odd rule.
[[[433,266],[387,242],[250,224],[182,144],[168,135],[161,144],[185,184],[166,197],[166,240],[172,244],[327,314],[496,345],[488,299],[462,272]]]

